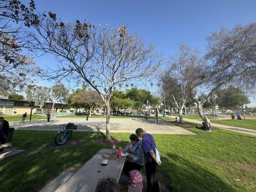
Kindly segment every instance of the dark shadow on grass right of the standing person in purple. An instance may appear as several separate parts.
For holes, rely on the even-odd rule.
[[[158,177],[164,192],[235,192],[232,186],[210,170],[181,156],[162,156]]]

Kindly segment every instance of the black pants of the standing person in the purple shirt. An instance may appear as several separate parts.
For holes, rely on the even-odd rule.
[[[152,160],[145,163],[146,167],[146,192],[159,192],[157,163]]]

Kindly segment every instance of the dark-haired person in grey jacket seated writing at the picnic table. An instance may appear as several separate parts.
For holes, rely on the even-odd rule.
[[[123,150],[123,153],[129,153],[129,159],[123,166],[123,172],[127,177],[129,177],[131,170],[136,169],[140,171],[144,166],[143,149],[139,137],[135,134],[131,134],[129,138],[131,142],[128,143]]]

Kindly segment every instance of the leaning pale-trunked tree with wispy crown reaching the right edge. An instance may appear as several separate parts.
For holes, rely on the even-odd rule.
[[[180,74],[187,80],[189,96],[208,128],[210,121],[202,108],[222,86],[243,84],[250,90],[256,87],[256,22],[237,25],[232,30],[222,29],[208,36],[207,41],[205,57],[193,50],[194,59],[181,68]],[[205,97],[199,100],[200,93]]]

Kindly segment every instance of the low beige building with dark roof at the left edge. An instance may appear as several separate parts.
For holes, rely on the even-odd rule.
[[[0,98],[0,114],[2,115],[22,115],[25,112],[28,114],[32,109],[32,113],[36,113],[41,110],[51,110],[52,103],[44,102],[43,106],[35,106],[36,101],[26,101],[26,100],[16,100],[8,99],[6,97]],[[55,103],[54,104],[55,112],[61,112],[63,110],[68,110],[67,104]]]

